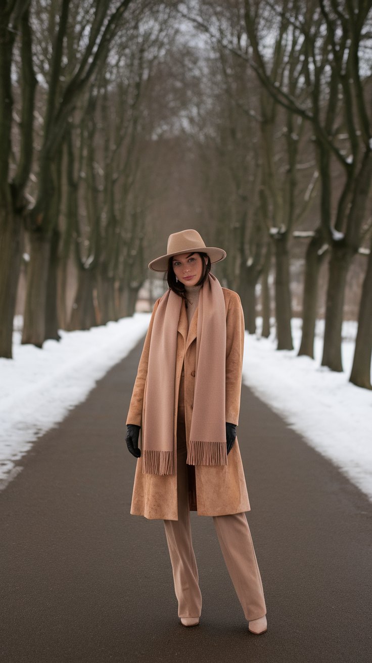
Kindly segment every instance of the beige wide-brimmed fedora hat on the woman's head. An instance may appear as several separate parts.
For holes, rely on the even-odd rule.
[[[210,257],[211,263],[218,263],[226,257],[223,249],[216,249],[216,247],[206,247],[202,237],[196,230],[182,230],[180,233],[172,233],[168,238],[168,245],[166,247],[166,255],[151,261],[149,267],[155,272],[168,271],[168,261],[172,255],[178,253],[207,253]]]

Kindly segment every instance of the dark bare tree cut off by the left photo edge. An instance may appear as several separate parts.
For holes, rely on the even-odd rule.
[[[23,215],[28,201],[25,187],[32,164],[32,121],[36,78],[32,65],[32,38],[29,0],[9,0],[0,7],[0,357],[12,356],[13,316],[21,264]],[[9,164],[14,154],[13,90],[11,70],[15,40],[19,38],[21,63],[18,84],[21,88],[19,154],[17,168],[9,182]]]

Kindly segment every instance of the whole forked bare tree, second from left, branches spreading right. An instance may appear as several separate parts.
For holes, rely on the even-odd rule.
[[[72,1],[62,0],[60,11],[54,14],[53,39],[44,117],[44,136],[38,159],[38,191],[36,204],[30,213],[31,261],[27,281],[27,300],[23,343],[41,346],[45,338],[46,288],[50,265],[50,242],[56,225],[54,197],[57,195],[56,160],[60,150],[68,117],[74,111],[80,95],[86,90],[107,44],[119,29],[131,0],[112,5],[110,0],[95,5],[80,3],[79,29],[70,25]],[[58,18],[58,20],[57,20]],[[68,29],[76,34],[76,50],[66,52],[64,46]],[[87,38],[87,34],[89,37]],[[68,57],[73,74],[68,81],[64,76]]]

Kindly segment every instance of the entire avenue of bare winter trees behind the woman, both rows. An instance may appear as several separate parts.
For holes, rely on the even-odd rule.
[[[279,350],[300,315],[314,357],[324,317],[341,371],[358,318],[371,389],[371,24],[372,0],[2,3],[0,356],[20,298],[38,347],[132,315],[155,247],[196,227]]]

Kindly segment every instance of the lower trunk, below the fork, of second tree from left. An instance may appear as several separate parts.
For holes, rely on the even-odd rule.
[[[45,306],[50,257],[50,235],[31,234],[31,259],[27,271],[27,292],[22,343],[42,347],[45,340]]]

